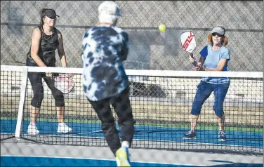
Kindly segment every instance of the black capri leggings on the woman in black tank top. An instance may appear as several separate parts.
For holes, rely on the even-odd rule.
[[[27,76],[29,78],[34,93],[34,97],[31,101],[31,105],[33,107],[40,108],[41,102],[44,98],[44,88],[42,85],[42,78],[47,83],[48,88],[51,89],[53,98],[55,99],[55,106],[56,107],[65,106],[64,95],[61,91],[55,88],[54,79],[52,79],[51,77],[46,77],[45,73],[39,73],[39,72],[28,72]]]

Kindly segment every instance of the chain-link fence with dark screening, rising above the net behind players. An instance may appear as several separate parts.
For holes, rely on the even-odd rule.
[[[39,25],[41,8],[60,15],[56,26],[63,36],[68,66],[82,67],[81,38],[98,23],[102,1],[1,1],[1,65],[25,65],[32,29]],[[213,27],[226,28],[231,71],[263,71],[263,1],[116,1],[126,29],[130,52],[126,69],[191,70],[179,36],[194,32],[197,48],[207,45]],[[167,29],[161,33],[158,26]],[[57,56],[57,65],[60,61]]]

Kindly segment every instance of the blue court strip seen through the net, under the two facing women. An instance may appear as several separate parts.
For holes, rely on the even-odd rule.
[[[24,121],[22,134],[27,133],[29,121]],[[1,133],[15,133],[15,120],[1,120]],[[73,133],[66,136],[72,137],[93,137],[104,138],[101,131],[100,123],[67,123],[73,130]],[[37,122],[40,134],[42,135],[60,135],[57,133],[58,123],[50,121]],[[119,128],[117,128],[119,129]],[[158,140],[164,142],[199,142],[204,144],[220,144],[243,147],[259,147],[263,148],[263,133],[260,132],[244,132],[244,131],[226,131],[227,140],[219,142],[218,131],[213,130],[197,130],[197,139],[185,140],[183,135],[189,129],[187,128],[169,128],[158,126],[136,126],[133,139],[140,140]]]

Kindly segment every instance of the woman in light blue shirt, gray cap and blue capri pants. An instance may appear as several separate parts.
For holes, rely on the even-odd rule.
[[[205,46],[200,52],[200,59],[196,67],[192,67],[196,71],[227,71],[227,64],[230,60],[230,50],[226,48],[227,37],[225,36],[224,27],[214,27],[208,36],[209,45]],[[203,67],[204,66],[204,67]],[[215,102],[213,110],[219,125],[218,140],[225,141],[224,121],[225,114],[223,112],[223,102],[230,85],[229,77],[203,77],[197,86],[197,93],[192,102],[191,112],[191,130],[184,136],[185,139],[196,138],[195,127],[204,101],[209,98],[213,92]]]

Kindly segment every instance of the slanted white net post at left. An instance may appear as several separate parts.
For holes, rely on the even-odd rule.
[[[15,138],[20,140],[20,132],[22,126],[22,116],[24,111],[24,104],[25,104],[25,96],[26,96],[26,89],[27,89],[27,67],[23,67],[22,70],[22,84],[20,86],[20,100],[19,100],[19,108],[18,108],[18,119],[17,124],[15,127]]]

